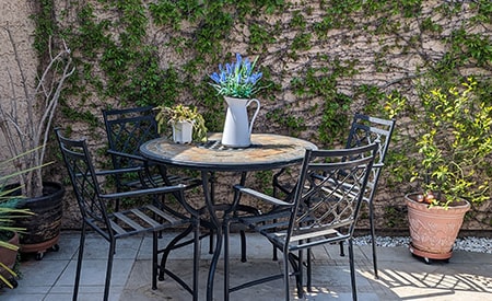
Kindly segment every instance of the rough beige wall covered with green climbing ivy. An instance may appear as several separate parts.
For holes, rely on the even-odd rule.
[[[235,53],[259,56],[267,85],[258,95],[262,108],[254,131],[324,148],[343,143],[355,112],[389,117],[388,95],[408,97],[419,109],[422,82],[447,88],[475,76],[480,95],[492,102],[490,0],[42,2],[55,22],[42,23],[40,42],[50,34],[63,37],[78,66],[58,123],[87,136],[99,158],[102,108],[184,103],[220,131],[225,107],[208,74]],[[412,125],[405,115],[396,117],[376,201],[380,229],[406,229],[402,198],[413,188],[405,173]],[[270,175],[249,181],[269,183]],[[492,228],[490,205],[482,207],[465,227]]]

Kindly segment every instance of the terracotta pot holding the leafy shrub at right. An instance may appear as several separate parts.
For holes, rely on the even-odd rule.
[[[467,200],[454,202],[447,209],[417,201],[419,194],[405,196],[410,227],[410,252],[432,259],[448,259],[458,236],[465,213],[470,209]]]

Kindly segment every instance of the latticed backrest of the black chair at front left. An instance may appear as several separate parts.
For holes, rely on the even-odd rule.
[[[55,131],[82,217],[107,224],[107,209],[99,198],[99,183],[85,140],[71,140],[60,129]]]

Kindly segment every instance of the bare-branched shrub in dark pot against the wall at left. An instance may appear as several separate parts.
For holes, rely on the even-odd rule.
[[[35,212],[33,217],[15,221],[17,227],[26,228],[21,238],[21,252],[36,252],[39,259],[46,250],[58,247],[65,189],[60,183],[45,181],[43,169],[35,166],[44,165],[60,93],[74,68],[67,45],[60,43],[61,49],[57,53],[51,47],[55,43],[50,40],[49,57],[33,85],[28,80],[27,68],[22,66],[15,42],[8,28],[7,32],[19,68],[15,74],[7,70],[11,93],[0,100],[0,132],[3,135],[0,140],[4,141],[10,158],[16,158],[12,166],[17,171],[17,181],[12,185],[21,187],[17,194],[26,198],[23,201],[25,208]],[[25,155],[16,157],[19,153]]]

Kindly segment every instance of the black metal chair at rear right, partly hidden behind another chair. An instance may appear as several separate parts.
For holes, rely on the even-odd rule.
[[[366,194],[364,194],[364,201],[368,206],[370,218],[370,231],[372,241],[372,254],[374,265],[374,277],[378,278],[377,273],[377,253],[376,253],[376,230],[374,222],[374,196],[377,189],[377,183],[379,175],[384,166],[386,153],[388,151],[391,135],[395,128],[395,119],[383,119],[372,117],[363,114],[355,114],[350,127],[349,137],[347,139],[345,148],[354,148],[361,146],[367,146],[378,142],[378,150],[374,161],[374,166],[371,176],[367,182]],[[283,194],[290,194],[292,188],[282,185],[279,181],[279,176],[284,171],[279,172],[273,177],[273,195],[278,196],[280,192]],[[340,255],[344,256],[343,242],[340,242]],[[273,258],[277,259],[277,254],[273,254]]]

